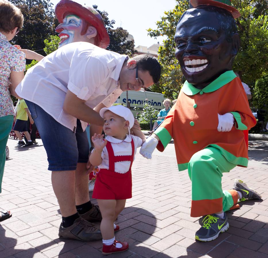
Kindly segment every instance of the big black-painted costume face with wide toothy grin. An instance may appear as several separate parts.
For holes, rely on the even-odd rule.
[[[217,13],[190,9],[175,34],[175,56],[188,83],[202,89],[225,71],[232,70],[232,42],[226,39]]]

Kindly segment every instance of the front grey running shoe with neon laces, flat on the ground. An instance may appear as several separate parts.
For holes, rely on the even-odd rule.
[[[203,242],[215,240],[219,233],[225,232],[229,228],[225,212],[224,218],[212,214],[205,216],[202,222],[203,226],[195,233],[195,239]]]

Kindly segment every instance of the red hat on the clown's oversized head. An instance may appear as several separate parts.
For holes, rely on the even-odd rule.
[[[107,48],[110,38],[104,26],[104,21],[99,12],[90,6],[83,6],[71,0],[61,0],[55,6],[55,15],[60,23],[63,22],[67,13],[78,15],[80,18],[88,21],[97,29],[97,37],[99,37],[100,48]]]

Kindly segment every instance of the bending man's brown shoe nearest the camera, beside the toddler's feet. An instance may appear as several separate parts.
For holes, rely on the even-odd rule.
[[[59,237],[65,239],[76,239],[80,241],[96,241],[101,240],[101,231],[95,228],[94,224],[77,218],[74,224],[68,228],[63,228],[62,222],[59,227]]]

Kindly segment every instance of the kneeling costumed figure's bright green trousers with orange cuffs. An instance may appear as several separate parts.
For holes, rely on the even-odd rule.
[[[221,187],[223,173],[234,167],[236,164],[227,161],[214,147],[207,147],[192,156],[188,165],[192,181],[192,217],[227,211],[236,204],[237,193],[223,191]]]

